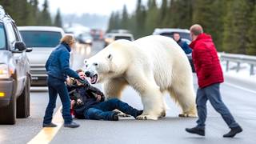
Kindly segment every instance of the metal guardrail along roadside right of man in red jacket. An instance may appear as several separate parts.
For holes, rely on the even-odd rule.
[[[241,63],[248,63],[250,65],[250,75],[254,75],[254,66],[256,66],[256,56],[249,56],[245,54],[226,54],[218,53],[221,61],[226,61],[226,71],[230,70],[230,62],[236,62],[236,71],[241,68]]]

